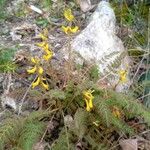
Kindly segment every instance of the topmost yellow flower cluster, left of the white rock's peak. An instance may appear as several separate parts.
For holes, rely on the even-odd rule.
[[[72,14],[71,9],[66,9],[64,11],[64,17],[65,19],[69,22],[69,24],[72,24],[75,17]],[[63,32],[65,32],[66,34],[71,34],[71,33],[76,33],[79,30],[78,26],[62,26],[62,30]]]

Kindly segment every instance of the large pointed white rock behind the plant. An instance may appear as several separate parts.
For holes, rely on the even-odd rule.
[[[84,60],[96,63],[101,74],[114,74],[120,68],[127,69],[128,66],[128,58],[125,57],[120,67],[112,68],[114,71],[108,67],[125,52],[122,41],[115,34],[115,23],[115,14],[109,2],[101,1],[87,27],[72,42],[72,50]],[[111,82],[118,82],[117,74],[114,78]],[[121,90],[118,88],[118,91]]]

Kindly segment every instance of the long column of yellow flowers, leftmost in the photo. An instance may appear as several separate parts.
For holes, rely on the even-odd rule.
[[[53,52],[49,49],[49,45],[47,42],[48,38],[44,34],[39,34],[39,37],[42,39],[42,42],[37,43],[36,45],[44,50],[45,54],[43,54],[43,60],[48,61],[53,56]],[[38,57],[31,57],[31,62],[34,64],[34,67],[32,67],[31,69],[28,69],[27,72],[29,74],[38,75],[36,81],[32,83],[32,88],[35,88],[38,85],[42,85],[44,89],[48,90],[49,85],[46,81],[46,78],[43,77],[44,69],[41,66],[42,59]]]

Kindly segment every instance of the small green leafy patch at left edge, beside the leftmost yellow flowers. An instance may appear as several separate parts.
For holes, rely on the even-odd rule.
[[[13,57],[16,49],[14,48],[0,48],[0,71],[10,72],[15,70]]]

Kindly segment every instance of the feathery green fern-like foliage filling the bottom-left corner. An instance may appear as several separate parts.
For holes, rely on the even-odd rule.
[[[32,150],[45,130],[45,123],[40,121],[50,112],[36,111],[26,118],[10,118],[0,126],[0,149],[9,145],[12,149]]]

